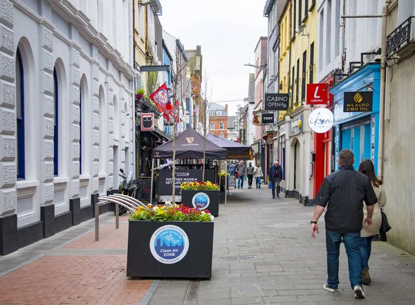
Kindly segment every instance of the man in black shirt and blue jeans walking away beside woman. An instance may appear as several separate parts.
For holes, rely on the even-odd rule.
[[[327,282],[324,290],[335,292],[339,284],[339,254],[343,239],[349,262],[349,279],[356,299],[364,299],[362,264],[360,261],[360,231],[363,223],[363,201],[367,206],[365,225],[372,223],[374,204],[378,202],[369,178],[353,169],[353,151],[342,149],[340,169],[324,178],[315,196],[315,211],[311,221],[311,237],[318,231],[317,221],[327,206],[326,222]],[[327,203],[329,202],[329,205]]]

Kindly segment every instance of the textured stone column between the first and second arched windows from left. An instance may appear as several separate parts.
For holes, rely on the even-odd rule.
[[[44,221],[44,237],[55,234],[55,205],[53,204],[53,33],[45,26],[39,28],[40,41],[40,217]]]

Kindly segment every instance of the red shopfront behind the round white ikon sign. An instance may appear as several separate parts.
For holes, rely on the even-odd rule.
[[[322,84],[326,84],[326,90],[333,85],[333,76],[327,78]],[[329,103],[319,105],[320,107],[326,107],[332,109],[333,95],[329,94]],[[326,133],[313,133],[314,136],[314,150],[315,150],[315,162],[314,162],[314,194],[317,194],[324,177],[331,173],[331,156],[333,147],[333,129]]]

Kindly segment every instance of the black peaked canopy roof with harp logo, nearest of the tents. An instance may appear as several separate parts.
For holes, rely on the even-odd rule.
[[[202,159],[203,146],[205,147],[205,159],[225,159],[227,149],[214,144],[209,139],[203,145],[203,136],[197,133],[192,127],[187,128],[176,136],[174,147],[176,148],[177,159]],[[173,158],[173,140],[153,149],[153,158]]]

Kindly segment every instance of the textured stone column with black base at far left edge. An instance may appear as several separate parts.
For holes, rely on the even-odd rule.
[[[13,5],[0,0],[0,255],[18,248],[14,39]]]

